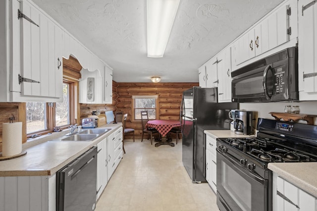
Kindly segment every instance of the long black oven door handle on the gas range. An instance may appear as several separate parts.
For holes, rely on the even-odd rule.
[[[232,163],[232,166],[237,170],[242,172],[243,174],[245,174],[246,176],[250,177],[252,180],[257,181],[258,183],[264,185],[265,187],[267,186],[267,181],[259,176],[257,176],[256,174],[252,173],[251,171],[249,171],[248,169],[246,169],[245,166],[241,165],[239,162],[237,162],[236,160],[234,160],[233,158],[231,158],[229,155],[226,155],[224,152],[222,152],[221,150],[219,150],[218,148],[216,148],[217,150],[217,156],[222,156],[223,158],[229,160]]]

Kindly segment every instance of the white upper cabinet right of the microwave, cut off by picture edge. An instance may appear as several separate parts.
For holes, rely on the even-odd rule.
[[[317,3],[298,1],[299,100],[317,100]]]

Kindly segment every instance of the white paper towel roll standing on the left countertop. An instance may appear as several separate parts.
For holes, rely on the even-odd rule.
[[[2,157],[22,152],[22,122],[2,123]]]

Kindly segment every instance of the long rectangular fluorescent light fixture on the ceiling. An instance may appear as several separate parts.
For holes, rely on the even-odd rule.
[[[147,0],[148,57],[163,57],[180,0]]]

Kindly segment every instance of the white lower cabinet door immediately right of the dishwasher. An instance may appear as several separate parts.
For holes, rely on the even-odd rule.
[[[108,182],[107,178],[107,139],[97,144],[97,200],[103,193]]]

